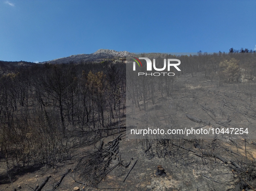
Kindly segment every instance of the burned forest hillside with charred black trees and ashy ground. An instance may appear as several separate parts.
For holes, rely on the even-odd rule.
[[[181,71],[132,76],[120,55],[0,62],[0,190],[256,190],[256,53],[132,56]],[[140,128],[211,136],[131,135]]]

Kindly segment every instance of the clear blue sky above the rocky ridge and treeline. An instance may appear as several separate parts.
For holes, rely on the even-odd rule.
[[[0,0],[0,60],[256,48],[256,1]],[[256,50],[256,49],[255,49]]]

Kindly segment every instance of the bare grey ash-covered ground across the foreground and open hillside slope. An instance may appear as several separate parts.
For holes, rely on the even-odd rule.
[[[255,119],[250,117],[255,115],[256,110],[254,82],[250,84],[250,89],[248,89],[248,84],[234,83],[219,87],[218,81],[206,80],[203,75],[196,75],[178,78],[175,83],[172,97],[167,98],[167,101],[172,101],[175,106],[176,119],[180,124],[187,127],[201,126],[186,118],[185,114],[190,113],[195,117],[210,121],[215,127],[220,127],[221,125],[217,125],[217,122],[226,121],[227,116],[232,119],[229,127],[255,125]],[[178,89],[181,85],[182,88]],[[164,102],[160,95],[156,97],[156,100],[156,105],[162,105]],[[209,111],[202,110],[201,105],[211,108],[215,116]],[[143,140],[129,140],[125,132],[123,135],[119,144],[119,152],[124,163],[131,162],[128,168],[118,166],[113,169],[97,185],[97,188],[75,182],[73,178],[80,182],[86,182],[86,180],[80,179],[75,172],[70,172],[56,190],[71,191],[78,186],[80,190],[85,187],[85,190],[91,191],[228,191],[233,190],[238,181],[238,173],[230,160],[235,160],[240,166],[247,168],[245,162],[253,163],[256,158],[256,145],[253,139],[246,140],[247,153],[245,153],[245,141],[242,138],[231,139],[228,136],[219,136],[216,140],[198,139],[203,149],[195,148],[195,141],[192,139],[172,140],[175,145],[182,147],[173,145],[172,153],[161,155],[158,152],[161,151],[162,146],[156,142],[152,142],[150,152],[145,153],[142,147]],[[116,137],[117,134],[103,138],[104,144]],[[20,185],[20,191],[32,191],[32,188],[40,184],[47,175],[51,175],[51,178],[42,190],[52,190],[52,184],[58,181],[67,169],[75,169],[78,159],[85,154],[85,151],[96,151],[95,145],[97,144],[99,141],[95,144],[78,145],[73,150],[72,159],[57,164],[55,169],[49,166],[17,169],[12,177],[13,183],[10,183],[6,177],[6,163],[3,158],[0,158],[0,190],[13,191]],[[215,157],[201,157],[204,150],[217,153],[228,162],[224,163]],[[136,160],[136,165],[123,182]],[[117,160],[112,160],[110,167],[117,163]],[[159,165],[165,169],[165,177],[155,175]]]

